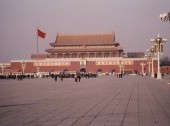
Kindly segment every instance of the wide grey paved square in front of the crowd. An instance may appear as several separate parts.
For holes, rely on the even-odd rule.
[[[0,80],[0,126],[170,126],[170,85],[139,76]]]

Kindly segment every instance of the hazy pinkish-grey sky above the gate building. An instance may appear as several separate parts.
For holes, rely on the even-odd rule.
[[[151,38],[168,39],[170,22],[159,15],[170,11],[170,0],[0,0],[0,62],[30,59],[36,53],[37,26],[47,33],[39,52],[63,34],[116,33],[125,52],[144,52]]]

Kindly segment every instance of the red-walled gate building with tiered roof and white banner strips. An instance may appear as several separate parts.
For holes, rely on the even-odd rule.
[[[124,55],[123,47],[115,39],[115,33],[75,34],[58,33],[56,40],[49,44],[46,54],[32,54],[31,60],[11,60],[4,73],[149,73],[144,53],[135,52]],[[1,64],[2,66],[3,64]],[[1,67],[2,71],[2,67]],[[157,59],[154,59],[157,72]],[[2,72],[1,72],[2,73]]]

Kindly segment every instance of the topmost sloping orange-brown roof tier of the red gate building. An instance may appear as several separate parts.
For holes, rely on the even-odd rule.
[[[50,43],[51,46],[74,46],[74,45],[113,45],[115,33],[109,34],[82,34],[62,35],[57,34],[56,40]]]

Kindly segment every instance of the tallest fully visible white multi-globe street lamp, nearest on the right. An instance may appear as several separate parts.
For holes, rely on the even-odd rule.
[[[163,53],[163,43],[166,42],[166,39],[161,38],[159,35],[157,38],[151,39],[151,42],[154,43],[154,52],[158,55],[158,72],[157,72],[157,79],[161,79],[162,75],[160,72],[160,53]]]

